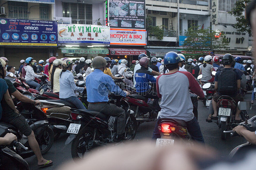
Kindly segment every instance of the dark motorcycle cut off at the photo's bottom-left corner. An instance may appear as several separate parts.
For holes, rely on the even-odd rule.
[[[7,127],[0,125],[0,137],[4,137],[7,133],[11,133],[11,131]],[[15,140],[10,145],[0,145],[0,152],[2,153],[1,170],[29,170],[26,160],[13,151],[15,147],[22,147],[24,150],[28,149]]]

